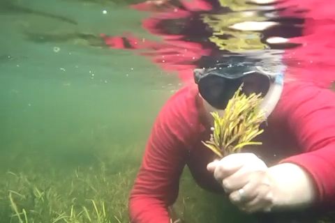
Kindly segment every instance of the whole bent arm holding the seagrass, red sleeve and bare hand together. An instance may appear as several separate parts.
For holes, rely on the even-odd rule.
[[[335,95],[303,84],[288,89],[280,113],[287,117],[301,154],[269,168],[255,155],[246,157],[247,153],[208,167],[230,192],[232,203],[248,212],[301,208],[335,199]]]

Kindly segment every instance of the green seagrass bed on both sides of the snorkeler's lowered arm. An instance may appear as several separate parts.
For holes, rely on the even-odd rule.
[[[24,157],[22,153],[13,154],[15,160],[5,154],[15,164],[0,169],[0,223],[128,223],[128,194],[141,156],[133,146],[122,148],[96,151],[97,160],[73,166],[64,162],[57,165],[36,153]],[[80,153],[75,153],[77,159],[82,159]],[[52,155],[51,160],[55,159]],[[186,223],[264,223],[241,213],[225,194],[202,190],[187,168],[181,176],[174,213]],[[279,213],[270,222],[330,223],[335,219],[319,217],[317,221],[308,214],[314,213],[305,211],[292,218]]]

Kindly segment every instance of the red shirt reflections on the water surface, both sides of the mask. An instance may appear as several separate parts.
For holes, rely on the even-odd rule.
[[[287,66],[286,79],[298,79],[329,87],[335,80],[335,1],[288,0],[278,1],[273,6],[281,17],[299,17],[304,20],[302,28],[297,29],[299,31],[294,31],[295,24],[292,24],[293,29],[282,26],[276,31],[270,29],[262,32],[263,36],[271,37],[274,33],[278,34],[278,30],[282,31],[283,36],[288,36],[289,43],[300,45],[286,47],[283,51],[282,61]],[[151,12],[142,21],[142,27],[159,36],[162,41],[139,39],[131,33],[124,33],[122,36],[103,34],[108,46],[137,49],[137,52],[149,57],[163,70],[177,72],[184,82],[193,79],[192,70],[203,66],[205,56],[229,54],[227,51],[220,52],[213,43],[209,43],[211,31],[199,20],[201,13],[210,13],[220,7],[218,1],[156,0],[130,7]],[[272,45],[269,47],[272,48]],[[210,60],[210,57],[206,60]]]

